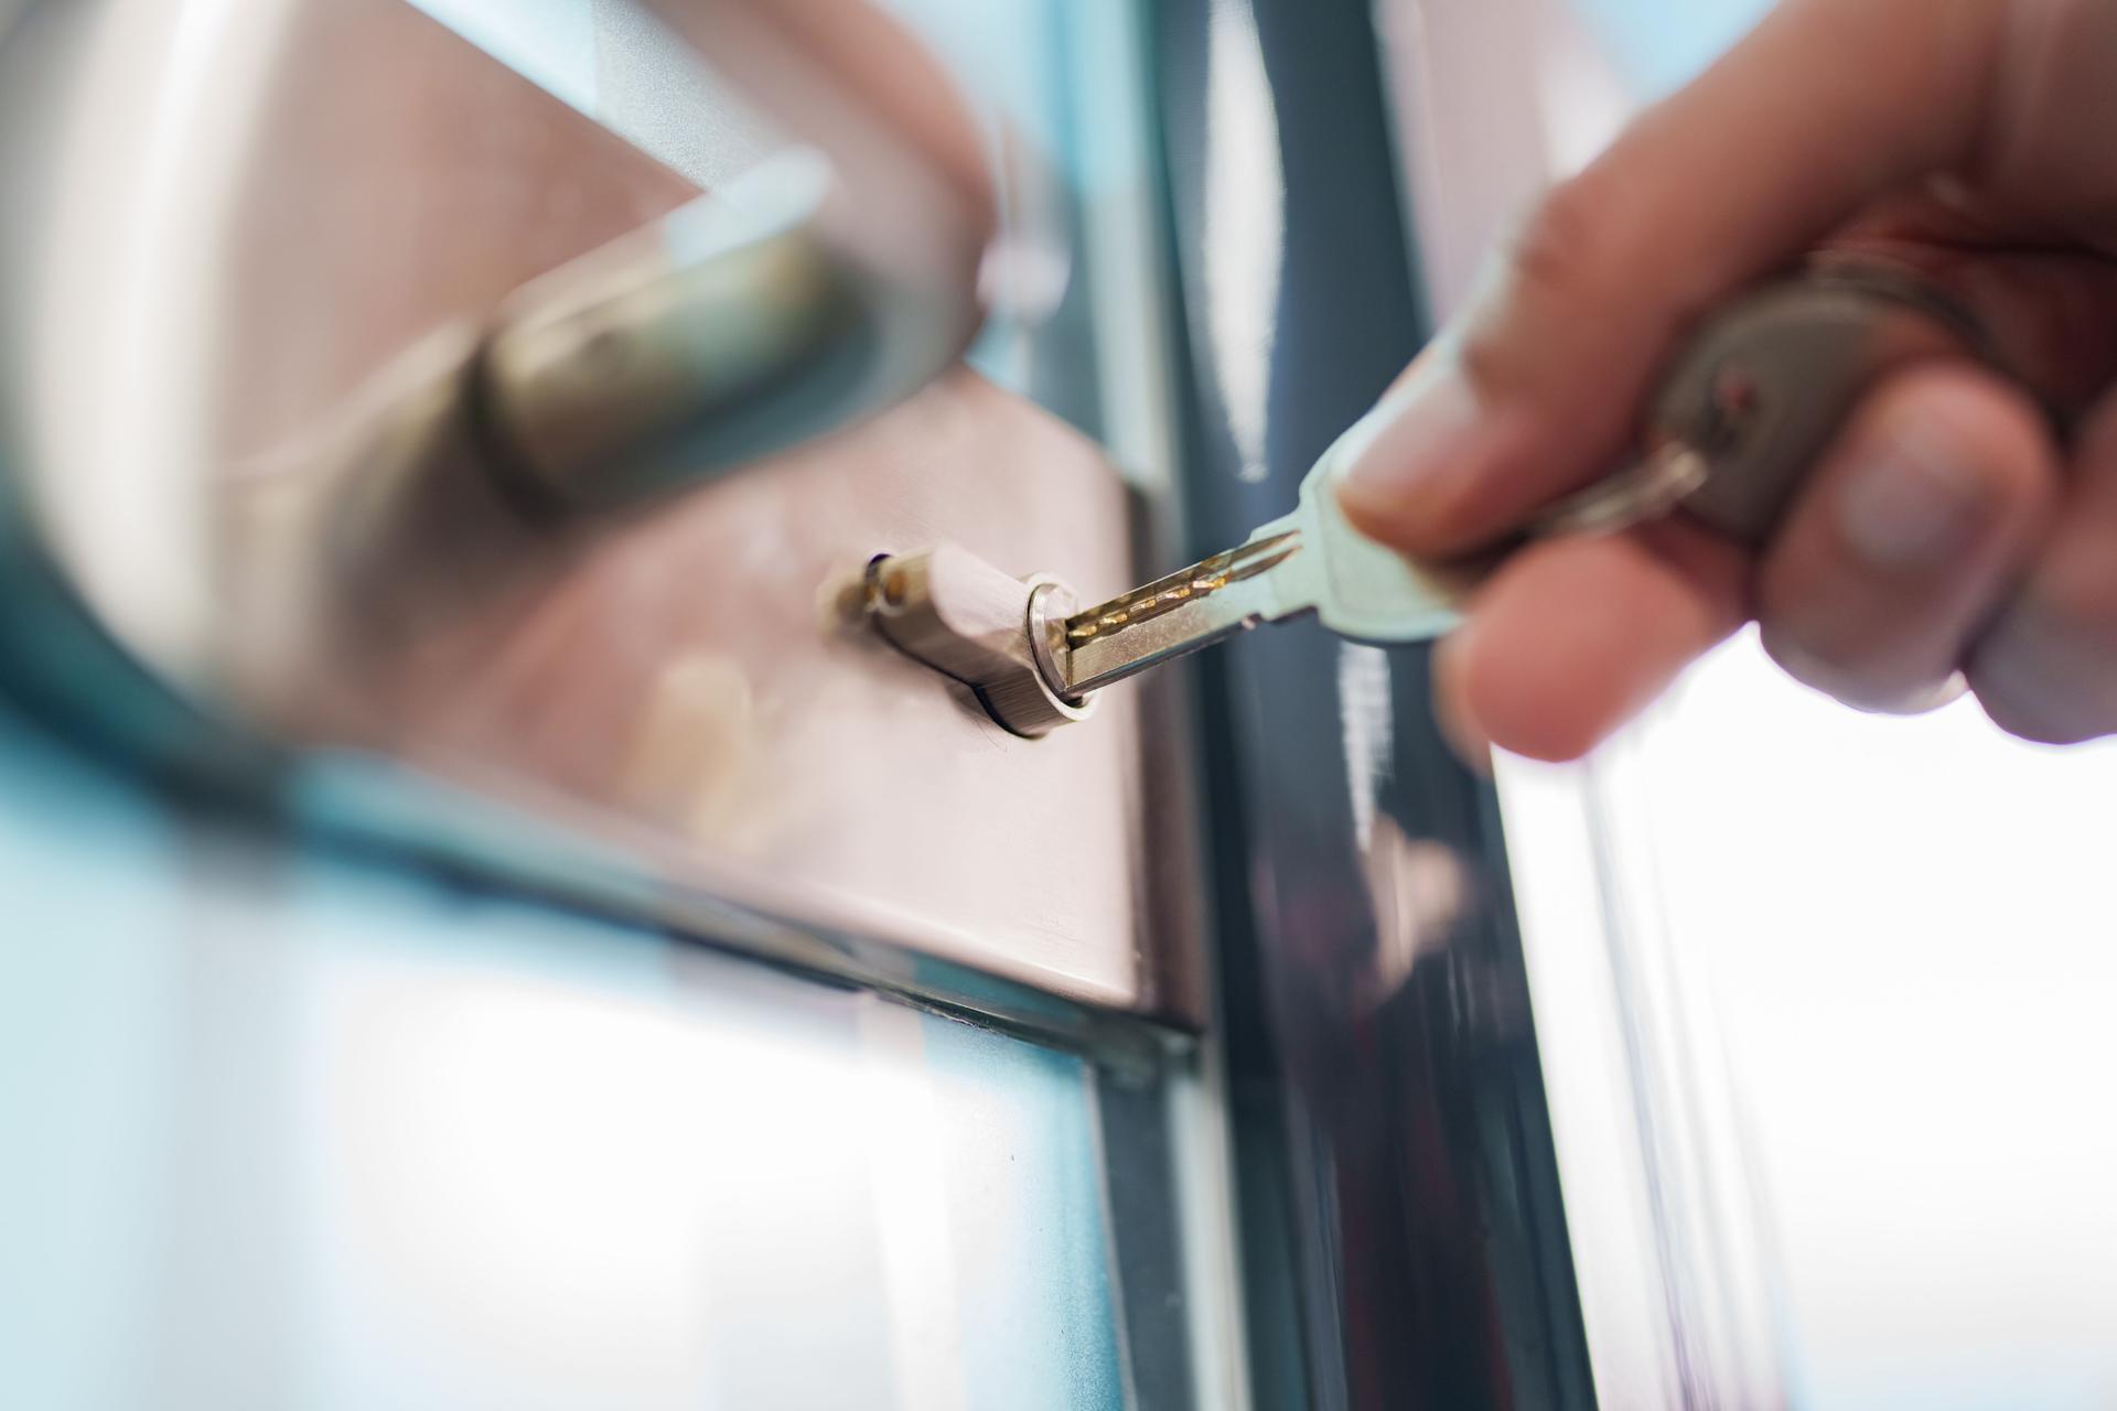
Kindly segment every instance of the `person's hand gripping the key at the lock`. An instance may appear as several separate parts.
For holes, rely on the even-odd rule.
[[[1681,518],[1514,554],[1437,658],[1442,721],[1571,759],[1747,618],[1793,677],[2032,740],[2117,732],[2117,2],[1789,0],[1558,186],[1340,480],[1414,554],[1624,459],[1685,332],[1802,256],[1954,294],[2066,417],[1969,364],[1884,379],[1751,554]]]

